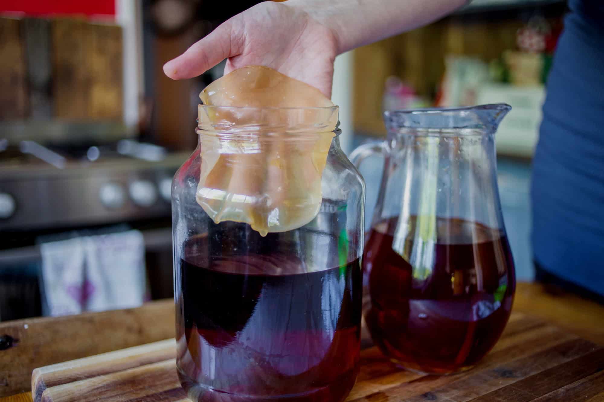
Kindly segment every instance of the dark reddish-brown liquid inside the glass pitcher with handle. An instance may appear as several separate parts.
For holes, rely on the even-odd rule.
[[[364,316],[372,339],[408,369],[449,374],[471,368],[495,345],[512,308],[507,238],[479,223],[438,219],[434,243],[416,244],[422,240],[411,233],[397,253],[396,224],[394,218],[374,226],[365,246],[370,301]]]

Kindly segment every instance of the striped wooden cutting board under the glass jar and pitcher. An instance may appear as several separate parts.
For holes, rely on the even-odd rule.
[[[186,401],[175,340],[34,369],[34,401]],[[471,371],[435,377],[404,371],[376,347],[361,351],[347,401],[604,401],[604,348],[512,313],[495,348]]]

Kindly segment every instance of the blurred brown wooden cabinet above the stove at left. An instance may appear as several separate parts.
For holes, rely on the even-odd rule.
[[[0,18],[0,120],[123,120],[122,28]]]

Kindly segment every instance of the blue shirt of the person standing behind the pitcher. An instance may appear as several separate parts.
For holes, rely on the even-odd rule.
[[[533,159],[533,254],[604,295],[604,1],[568,5]]]

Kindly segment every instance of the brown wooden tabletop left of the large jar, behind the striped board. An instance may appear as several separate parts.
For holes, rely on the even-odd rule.
[[[40,366],[155,342],[174,336],[174,302],[139,308],[0,323],[16,342],[0,350],[0,397],[28,392]]]

